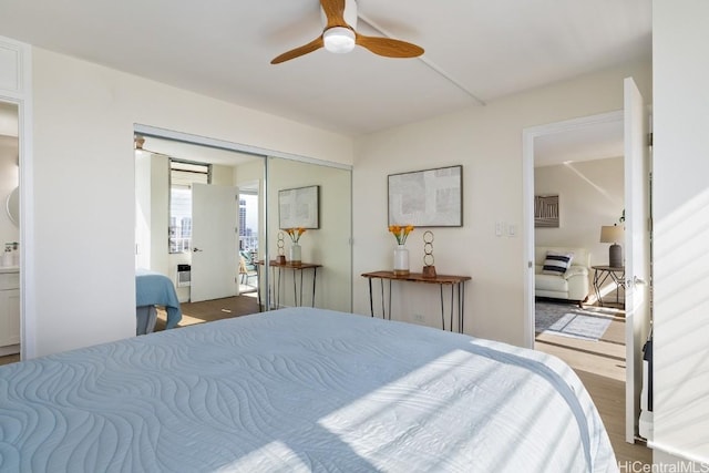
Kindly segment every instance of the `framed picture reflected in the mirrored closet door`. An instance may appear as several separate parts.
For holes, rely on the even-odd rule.
[[[278,191],[278,228],[320,228],[320,186]]]

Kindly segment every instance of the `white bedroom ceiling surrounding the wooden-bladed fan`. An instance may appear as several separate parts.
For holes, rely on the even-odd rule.
[[[352,136],[651,51],[650,0],[359,0],[358,9],[360,33],[425,53],[318,50],[271,65],[321,33],[317,0],[2,1],[0,34]]]

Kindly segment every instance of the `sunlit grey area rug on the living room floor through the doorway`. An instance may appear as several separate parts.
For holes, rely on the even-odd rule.
[[[537,301],[535,331],[564,337],[598,340],[610,322],[619,315],[618,309],[588,306],[580,308],[572,304]]]

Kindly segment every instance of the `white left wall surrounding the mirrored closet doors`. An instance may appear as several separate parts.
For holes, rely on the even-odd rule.
[[[32,50],[28,358],[135,333],[134,124],[351,164],[349,137]]]

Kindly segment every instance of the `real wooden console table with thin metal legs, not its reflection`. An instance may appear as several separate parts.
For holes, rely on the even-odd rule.
[[[391,281],[403,282],[420,282],[420,284],[435,284],[441,288],[441,328],[445,330],[445,308],[443,286],[451,287],[451,323],[450,330],[453,331],[453,313],[454,308],[458,307],[458,331],[463,332],[463,308],[465,304],[465,281],[471,280],[470,276],[445,276],[438,275],[434,277],[425,277],[421,273],[410,273],[405,276],[394,275],[392,271],[373,271],[364,273],[362,277],[369,279],[369,309],[371,316],[374,317],[374,300],[372,295],[372,279],[379,279],[381,285],[381,311],[382,318],[389,318],[391,320]],[[387,309],[384,308],[384,280],[389,281],[389,316],[387,317]],[[458,291],[456,291],[458,289]],[[458,298],[455,297],[458,292]]]

